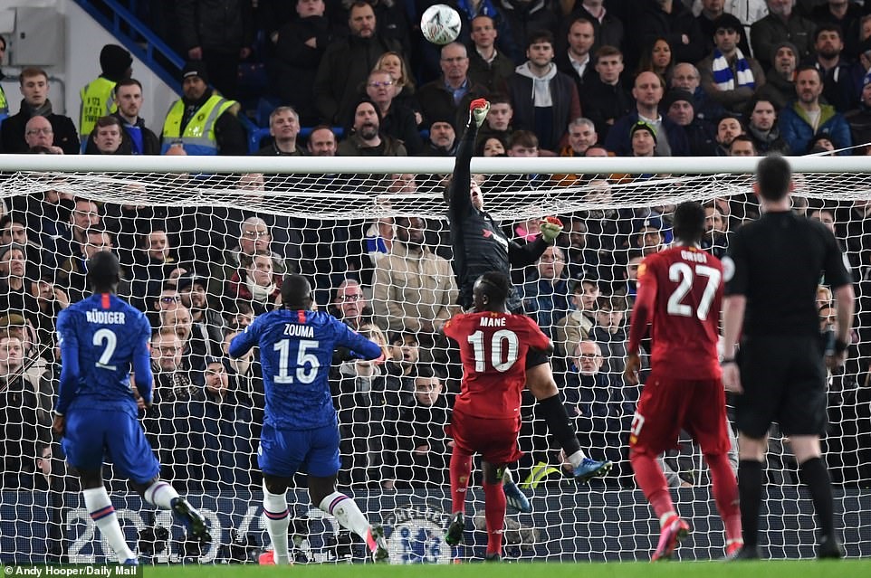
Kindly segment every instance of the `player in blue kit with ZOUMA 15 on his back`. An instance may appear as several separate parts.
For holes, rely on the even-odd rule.
[[[311,503],[366,541],[376,562],[387,562],[381,526],[371,526],[354,500],[336,491],[339,422],[328,374],[336,346],[360,359],[378,359],[381,347],[328,313],[316,311],[301,275],[282,281],[282,308],[254,319],[230,343],[231,357],[260,348],[266,411],[257,461],[263,470],[263,511],[274,563],[289,564],[286,491],[297,471],[309,478]]]

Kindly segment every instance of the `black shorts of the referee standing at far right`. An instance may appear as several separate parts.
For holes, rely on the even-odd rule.
[[[778,422],[786,435],[825,435],[827,373],[818,336],[745,337],[738,363],[738,431],[761,438]]]

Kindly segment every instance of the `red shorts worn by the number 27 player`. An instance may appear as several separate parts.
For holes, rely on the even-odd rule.
[[[665,372],[662,372],[665,373]],[[653,369],[641,392],[629,447],[658,455],[677,447],[687,431],[702,453],[726,453],[732,446],[726,427],[726,399],[719,379],[675,379]]]

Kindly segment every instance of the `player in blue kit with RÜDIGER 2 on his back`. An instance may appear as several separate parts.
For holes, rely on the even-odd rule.
[[[115,295],[120,265],[113,253],[91,257],[88,280],[93,294],[57,318],[62,365],[53,423],[67,462],[81,478],[85,507],[118,560],[137,564],[103,484],[101,470],[108,459],[148,503],[172,510],[189,535],[211,541],[203,516],[158,478],[160,464],[139,424],[130,377],[150,405],[148,318]]]

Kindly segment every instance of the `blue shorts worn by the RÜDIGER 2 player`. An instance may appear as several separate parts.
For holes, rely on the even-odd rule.
[[[129,413],[72,410],[66,415],[61,446],[67,462],[80,471],[100,471],[105,457],[121,476],[139,484],[160,474],[160,463],[142,426]]]

